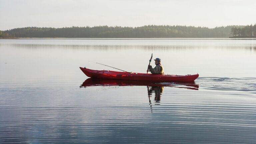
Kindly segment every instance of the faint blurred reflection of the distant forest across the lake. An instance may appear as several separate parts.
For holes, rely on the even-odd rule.
[[[184,51],[190,49],[205,49],[205,48],[222,48],[222,49],[229,49],[229,50],[255,50],[255,46],[244,46],[244,45],[88,45],[88,44],[5,44],[2,43],[0,46],[9,46],[9,47],[16,47],[16,48],[26,48],[26,49],[73,49],[73,50],[86,50],[86,51],[123,51],[123,50],[144,50],[144,51],[152,51],[152,50],[161,50],[161,51]]]

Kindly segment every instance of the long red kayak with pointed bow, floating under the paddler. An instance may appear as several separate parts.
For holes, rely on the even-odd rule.
[[[191,82],[198,78],[196,75],[161,75],[145,73],[116,72],[110,70],[91,70],[87,68],[80,69],[85,75],[91,78],[120,79],[120,80],[139,80],[139,81],[173,81],[173,82]]]

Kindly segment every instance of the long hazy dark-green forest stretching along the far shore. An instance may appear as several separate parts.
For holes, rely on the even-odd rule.
[[[147,25],[142,27],[25,27],[0,31],[2,38],[220,38],[255,37],[256,25],[194,26]]]

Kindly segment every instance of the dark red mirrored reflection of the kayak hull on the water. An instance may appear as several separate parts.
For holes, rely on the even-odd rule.
[[[198,90],[199,85],[195,82],[173,83],[173,82],[156,82],[156,81],[134,81],[134,80],[114,80],[88,78],[80,87],[87,86],[160,86],[160,87],[177,87]]]

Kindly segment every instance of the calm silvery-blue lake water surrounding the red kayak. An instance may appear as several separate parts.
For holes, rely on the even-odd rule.
[[[145,73],[151,53],[190,84]],[[93,61],[93,62],[89,62]],[[0,143],[256,143],[255,39],[0,39]]]

